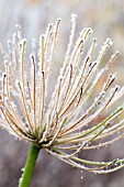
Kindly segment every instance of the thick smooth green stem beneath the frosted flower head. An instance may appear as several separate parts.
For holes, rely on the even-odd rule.
[[[24,173],[21,178],[20,187],[30,187],[38,153],[40,153],[40,147],[35,146],[34,144],[31,144],[26,164],[24,167]]]

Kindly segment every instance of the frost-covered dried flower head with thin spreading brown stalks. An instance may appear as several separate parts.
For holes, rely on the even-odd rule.
[[[93,162],[79,158],[78,154],[124,136],[124,120],[119,119],[123,107],[111,111],[123,96],[124,87],[119,89],[114,85],[116,73],[106,74],[119,53],[102,67],[104,54],[112,45],[108,38],[93,61],[95,38],[89,50],[84,44],[92,30],[83,29],[75,43],[76,15],[72,14],[65,61],[52,99],[45,105],[49,96],[48,82],[54,75],[52,67],[55,66],[59,23],[60,19],[55,25],[48,25],[40,38],[38,54],[31,54],[30,63],[25,57],[26,40],[22,38],[19,25],[8,43],[8,52],[2,50],[4,73],[0,84],[0,122],[10,133],[45,148],[75,167],[99,174],[117,170],[124,166],[124,160]],[[110,114],[106,110],[111,111]],[[115,135],[119,131],[121,133]]]

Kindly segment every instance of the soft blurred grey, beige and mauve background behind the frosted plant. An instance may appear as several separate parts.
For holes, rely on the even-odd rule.
[[[15,31],[15,24],[21,24],[23,36],[31,43],[37,38],[49,22],[55,23],[61,18],[59,34],[59,53],[57,64],[66,52],[70,29],[70,14],[76,13],[77,32],[91,26],[93,36],[101,45],[106,37],[114,41],[111,52],[120,51],[121,56],[113,67],[121,73],[119,81],[124,82],[124,0],[0,0],[0,43],[7,46],[7,41]],[[2,68],[2,62],[0,62]],[[104,160],[124,156],[124,140],[112,146],[90,152],[92,160]],[[18,187],[19,178],[24,167],[29,144],[15,141],[7,131],[0,129],[0,187]],[[84,157],[89,157],[84,153]],[[42,151],[36,164],[31,187],[124,187],[124,168],[109,175],[94,175],[61,163]]]

